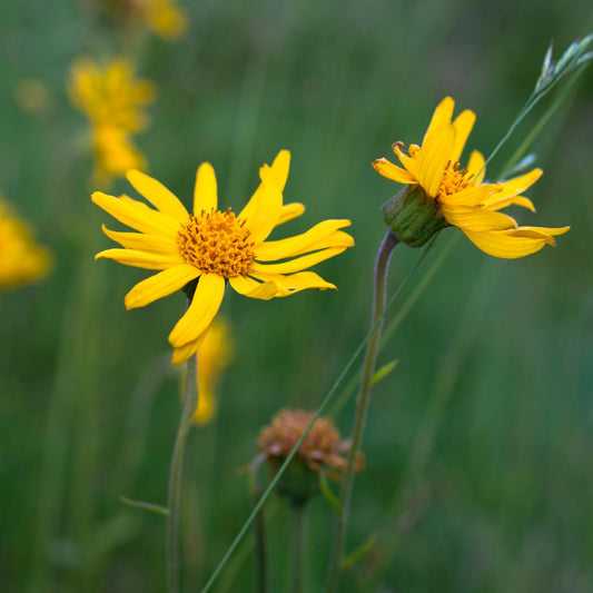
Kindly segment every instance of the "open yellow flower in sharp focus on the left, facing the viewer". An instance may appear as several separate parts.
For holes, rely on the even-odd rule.
[[[260,185],[239,215],[218,209],[214,169],[202,164],[196,175],[194,214],[165,186],[138,170],[127,177],[155,207],[127,196],[100,191],[92,201],[139,233],[105,234],[123,249],[107,249],[97,258],[162,270],[137,284],[127,295],[128,309],[142,307],[197,280],[191,303],[169,334],[174,364],[192,356],[220,307],[228,281],[239,294],[259,299],[289,296],[306,288],[336,288],[306,268],[354,245],[340,228],[349,220],[325,220],[307,233],[267,241],[274,227],[300,216],[302,204],[283,206],[290,154],[281,150],[271,167],[259,170]],[[290,259],[294,258],[294,259]],[[280,263],[273,263],[283,260]]]

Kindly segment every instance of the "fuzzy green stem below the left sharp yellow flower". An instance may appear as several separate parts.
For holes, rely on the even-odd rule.
[[[196,356],[187,362],[186,385],[184,389],[184,407],[175,438],[171,465],[169,470],[169,494],[167,515],[167,590],[169,593],[179,591],[179,503],[181,494],[181,475],[184,453],[191,418],[197,406],[197,370]]]

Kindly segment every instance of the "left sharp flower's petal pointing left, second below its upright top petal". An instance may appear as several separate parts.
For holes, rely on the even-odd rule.
[[[158,210],[152,210],[146,204],[127,196],[116,198],[101,191],[95,191],[91,199],[113,218],[140,233],[177,237],[178,220]]]

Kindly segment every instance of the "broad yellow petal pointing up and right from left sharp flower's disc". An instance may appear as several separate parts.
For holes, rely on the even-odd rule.
[[[251,240],[257,245],[266,239],[276,226],[283,207],[283,192],[277,175],[264,165],[259,169],[261,184],[238,216],[251,231]]]

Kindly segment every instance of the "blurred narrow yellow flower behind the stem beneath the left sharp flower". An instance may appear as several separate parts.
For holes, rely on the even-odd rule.
[[[231,343],[224,322],[214,320],[198,348],[198,407],[194,424],[204,426],[216,415],[216,383],[230,362]]]

